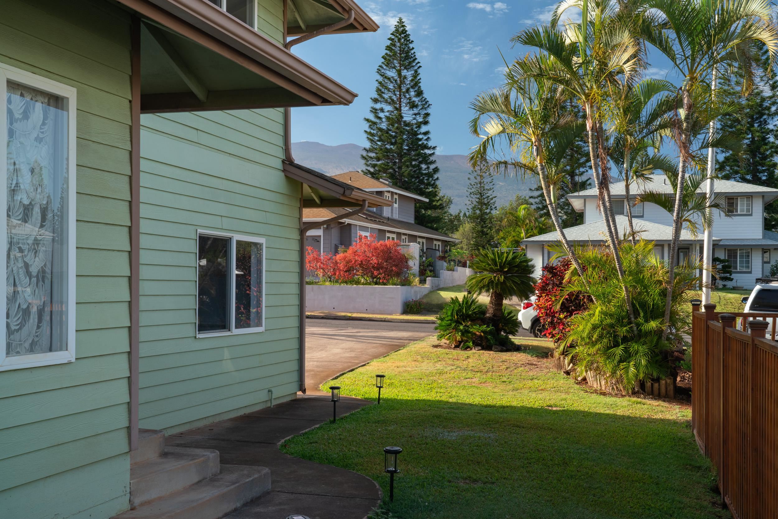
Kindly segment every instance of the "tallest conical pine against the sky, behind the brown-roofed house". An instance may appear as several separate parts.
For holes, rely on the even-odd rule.
[[[445,226],[448,211],[438,187],[435,146],[426,129],[431,105],[422,90],[421,68],[408,27],[398,19],[376,71],[376,94],[365,118],[363,172],[429,198],[416,204],[416,223],[438,229]]]

